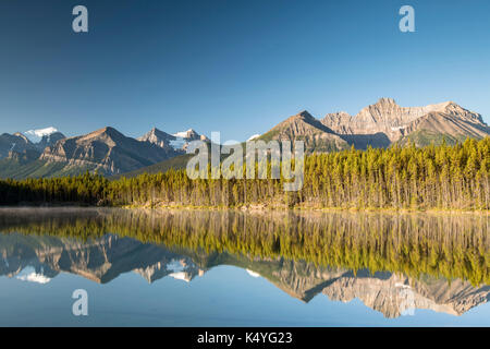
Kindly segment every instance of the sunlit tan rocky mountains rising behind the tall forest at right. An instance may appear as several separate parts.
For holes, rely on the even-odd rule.
[[[482,139],[490,128],[481,115],[464,109],[453,101],[425,107],[401,107],[392,98],[381,98],[356,116],[341,111],[314,118],[304,110],[279,123],[255,140],[303,140],[306,152],[332,152],[352,145],[388,147],[393,144],[416,146],[448,144],[467,137]]]

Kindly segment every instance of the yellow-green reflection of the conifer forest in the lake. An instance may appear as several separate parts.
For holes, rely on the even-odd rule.
[[[1,210],[0,231],[89,239],[108,232],[193,253],[305,261],[490,285],[486,215],[123,209]]]

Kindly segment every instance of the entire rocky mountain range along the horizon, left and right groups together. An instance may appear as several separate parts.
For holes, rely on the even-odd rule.
[[[401,107],[392,98],[381,98],[356,116],[341,111],[317,119],[304,110],[253,139],[302,140],[307,153],[321,153],[351,146],[455,144],[488,135],[490,128],[481,115],[453,101]],[[209,142],[192,129],[170,134],[154,128],[138,139],[110,127],[74,137],[65,137],[54,128],[4,133],[0,135],[0,178],[58,177],[87,170],[120,176],[182,168],[188,159],[184,155],[187,144],[196,140]]]

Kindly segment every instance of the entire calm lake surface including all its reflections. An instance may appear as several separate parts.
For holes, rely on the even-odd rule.
[[[1,326],[490,326],[482,215],[0,209]],[[74,290],[88,315],[75,316]]]

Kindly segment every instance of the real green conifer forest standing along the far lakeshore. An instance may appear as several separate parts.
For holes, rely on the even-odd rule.
[[[490,137],[454,146],[313,154],[305,159],[302,190],[284,192],[283,183],[192,180],[185,169],[117,180],[87,172],[2,180],[0,204],[485,210],[490,208]]]

